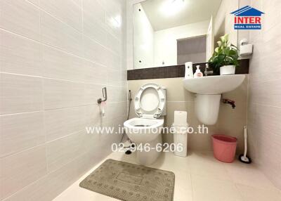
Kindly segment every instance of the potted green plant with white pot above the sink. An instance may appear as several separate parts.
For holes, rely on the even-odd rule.
[[[214,72],[220,70],[220,74],[235,74],[235,67],[239,66],[237,47],[228,42],[228,34],[220,37],[217,44],[218,47],[209,59],[209,65],[213,67]]]

